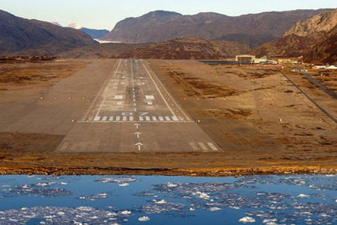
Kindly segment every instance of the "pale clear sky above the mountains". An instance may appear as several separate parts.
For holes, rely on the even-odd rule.
[[[56,21],[63,26],[77,23],[94,29],[112,30],[128,17],[155,10],[194,15],[216,12],[229,16],[293,9],[337,8],[336,0],[0,0],[0,9],[16,16]]]

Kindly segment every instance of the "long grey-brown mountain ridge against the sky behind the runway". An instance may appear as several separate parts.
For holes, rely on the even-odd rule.
[[[280,38],[296,22],[307,20],[322,11],[293,10],[236,17],[211,12],[182,15],[176,12],[154,11],[120,21],[103,40],[142,43],[190,36],[230,41],[239,37],[240,42],[256,47]]]

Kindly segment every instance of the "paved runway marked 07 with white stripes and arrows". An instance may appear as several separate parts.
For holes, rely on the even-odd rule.
[[[221,151],[146,61],[119,60],[58,152]]]

